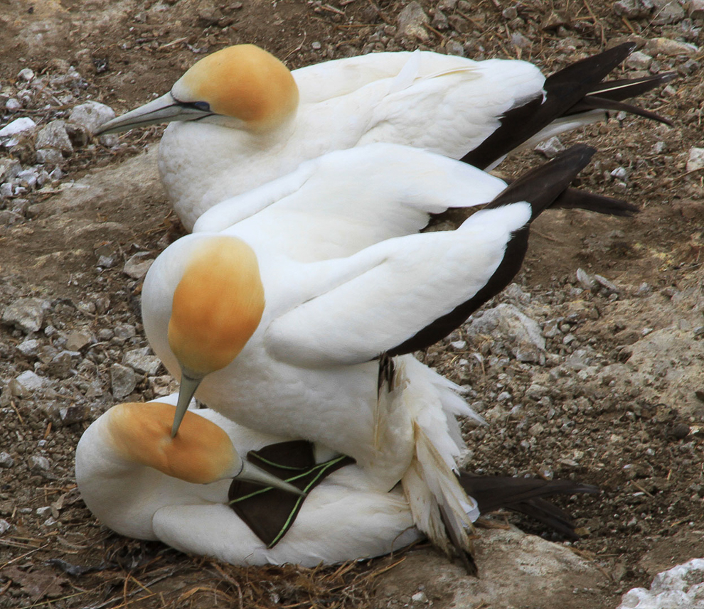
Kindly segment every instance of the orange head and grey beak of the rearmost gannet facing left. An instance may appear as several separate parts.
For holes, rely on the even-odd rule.
[[[289,69],[255,45],[235,45],[196,62],[171,92],[102,124],[95,135],[197,120],[262,131],[286,122],[297,107],[298,87]]]

